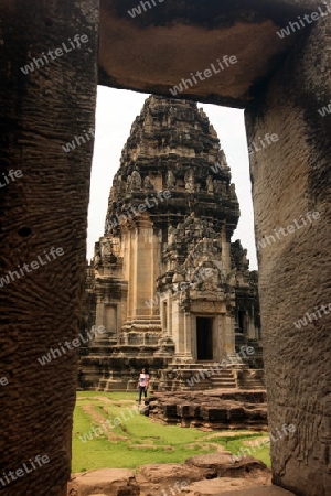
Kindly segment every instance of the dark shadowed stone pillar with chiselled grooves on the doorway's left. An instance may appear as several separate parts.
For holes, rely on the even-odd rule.
[[[79,333],[97,3],[0,2],[1,179],[22,173],[0,190],[0,277],[29,269],[0,288],[1,377],[8,379],[0,386],[1,474],[24,464],[29,471],[1,486],[8,496],[67,494],[78,351],[56,353],[45,365],[38,359]],[[76,34],[87,41],[72,48]],[[57,48],[61,56],[43,57]],[[67,143],[75,148],[65,151]],[[52,247],[63,251],[50,261]],[[29,460],[38,455],[49,463],[32,470]]]

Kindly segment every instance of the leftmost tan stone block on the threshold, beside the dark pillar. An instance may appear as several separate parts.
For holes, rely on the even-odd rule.
[[[68,493],[71,489],[77,490],[78,496],[88,496],[100,490],[106,496],[139,495],[135,472],[128,468],[102,468],[73,474]]]

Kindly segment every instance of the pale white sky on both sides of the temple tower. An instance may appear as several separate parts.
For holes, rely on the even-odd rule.
[[[88,213],[87,258],[94,254],[94,244],[104,234],[108,195],[114,174],[119,168],[122,147],[131,125],[142,108],[148,95],[98,86],[96,110],[96,134],[92,168],[92,185]],[[214,126],[232,171],[241,205],[241,219],[233,241],[241,239],[248,250],[250,269],[257,268],[247,141],[244,111],[197,104],[203,107]]]

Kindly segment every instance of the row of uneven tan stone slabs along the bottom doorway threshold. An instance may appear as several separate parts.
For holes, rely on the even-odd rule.
[[[134,473],[125,470],[104,468],[82,475],[77,474],[77,477],[73,476],[68,494],[74,488],[77,492],[74,496],[121,494],[199,496],[201,494],[223,494],[229,489],[265,486],[268,486],[271,492],[270,471],[263,463],[247,457],[242,460],[233,472],[229,472],[224,456],[228,459],[228,453],[194,456],[184,464],[145,465],[135,474],[135,479],[132,479]],[[103,493],[96,494],[97,490],[100,490],[98,489],[100,486],[103,486]]]

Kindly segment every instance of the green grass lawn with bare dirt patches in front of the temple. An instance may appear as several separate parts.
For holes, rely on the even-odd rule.
[[[245,441],[261,435],[236,431],[234,436],[228,438],[222,436],[221,431],[203,432],[162,425],[137,414],[134,409],[136,399],[137,392],[77,392],[72,472],[104,467],[136,468],[150,463],[182,463],[195,454],[215,452],[216,444],[236,454]],[[111,421],[113,428],[106,423],[107,419]],[[256,449],[255,457],[269,466],[268,448]]]

